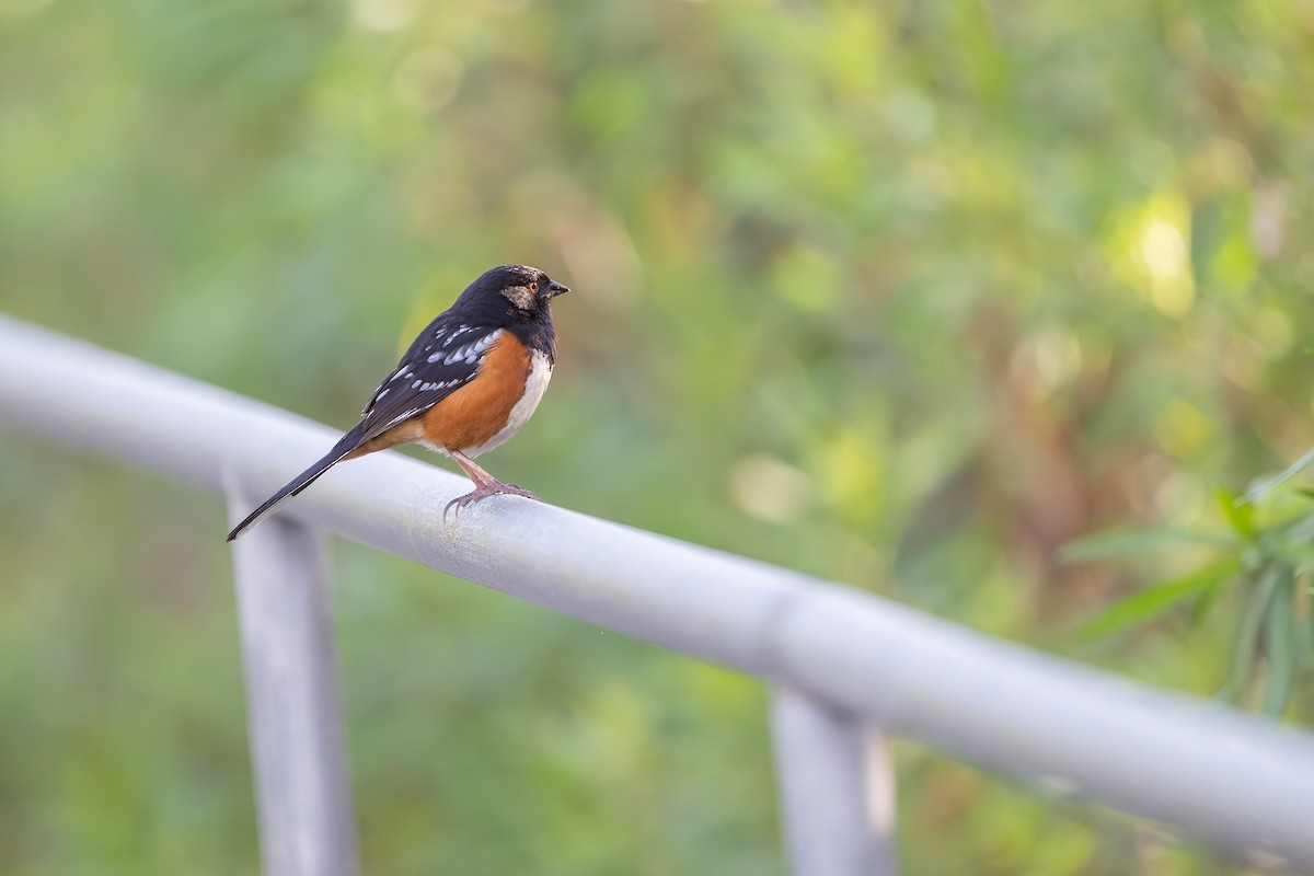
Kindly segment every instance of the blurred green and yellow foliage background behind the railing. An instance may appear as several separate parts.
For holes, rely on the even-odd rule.
[[[0,0],[0,309],[346,428],[530,263],[576,292],[503,479],[1209,696],[1239,595],[1076,636],[1198,557],[1059,549],[1314,444],[1311,45],[1309,0]],[[255,873],[219,499],[0,440],[0,869]],[[759,684],[334,552],[365,872],[783,873]],[[1236,872],[895,753],[905,873]]]

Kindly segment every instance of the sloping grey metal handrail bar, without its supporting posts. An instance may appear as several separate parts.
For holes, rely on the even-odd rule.
[[[53,394],[51,385],[76,391]],[[0,420],[247,495],[272,491],[339,435],[7,318]],[[486,502],[444,524],[444,503],[465,486],[439,468],[376,454],[335,469],[284,514],[770,679],[837,716],[1043,788],[1314,869],[1309,735],[850,587],[548,504]]]

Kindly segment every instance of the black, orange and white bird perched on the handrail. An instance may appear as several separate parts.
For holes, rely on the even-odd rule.
[[[506,264],[485,271],[415,338],[371,395],[356,423],[323,457],[292,478],[229,533],[242,537],[284,502],[346,460],[419,443],[451,457],[474,482],[452,499],[461,508],[493,495],[541,502],[502,483],[474,462],[530,419],[557,359],[552,299],[570,292],[537,268]]]

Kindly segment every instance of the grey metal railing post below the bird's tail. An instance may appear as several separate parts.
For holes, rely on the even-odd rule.
[[[230,493],[233,523],[251,506]],[[355,876],[326,541],[273,517],[233,556],[264,876]]]

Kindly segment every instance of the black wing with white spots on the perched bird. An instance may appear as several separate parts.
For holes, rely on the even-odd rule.
[[[464,324],[451,313],[431,322],[361,411],[361,440],[423,414],[468,383],[502,331]]]

